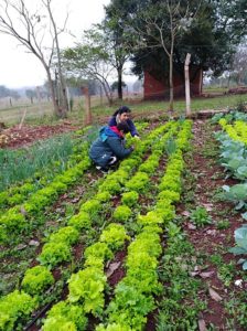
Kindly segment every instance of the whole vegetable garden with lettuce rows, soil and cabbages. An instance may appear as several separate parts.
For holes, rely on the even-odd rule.
[[[246,114],[138,130],[107,174],[88,127],[6,184],[0,330],[246,330]]]

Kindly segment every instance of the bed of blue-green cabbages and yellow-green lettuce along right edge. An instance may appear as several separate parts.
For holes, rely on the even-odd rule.
[[[247,116],[241,113],[222,115],[218,119],[222,131],[217,132],[219,141],[221,164],[225,168],[226,177],[239,181],[234,185],[224,185],[224,199],[235,204],[241,212],[243,220],[247,220]],[[229,250],[236,255],[247,254],[247,224],[235,229],[236,246]],[[243,269],[247,269],[247,259],[240,258]]]

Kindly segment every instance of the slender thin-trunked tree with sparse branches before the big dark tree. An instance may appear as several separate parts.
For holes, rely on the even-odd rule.
[[[140,2],[140,1],[137,1]],[[169,109],[173,111],[173,62],[175,42],[190,29],[201,2],[194,1],[142,1],[128,23],[135,35],[136,50],[159,50],[169,60]],[[154,51],[155,52],[155,51]],[[143,52],[141,52],[143,54]],[[162,71],[163,72],[163,71]]]

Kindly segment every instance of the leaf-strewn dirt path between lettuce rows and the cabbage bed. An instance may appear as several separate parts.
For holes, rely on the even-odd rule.
[[[237,181],[225,179],[224,169],[218,164],[218,149],[213,137],[213,129],[206,121],[197,120],[194,122],[192,158],[187,160],[187,166],[195,180],[194,202],[191,201],[186,205],[190,192],[185,191],[185,204],[180,206],[180,214],[185,216],[186,222],[183,229],[190,242],[196,252],[205,257],[204,265],[206,268],[203,271],[206,273],[204,274],[206,276],[204,282],[207,290],[198,293],[198,297],[207,302],[207,309],[202,313],[201,319],[205,321],[207,328],[213,325],[215,328],[213,330],[246,330],[238,324],[237,317],[230,316],[229,310],[226,310],[226,302],[233,298],[237,299],[240,292],[247,289],[247,282],[243,284],[245,288],[235,285],[243,271],[239,266],[236,266],[237,257],[227,252],[228,247],[234,246],[234,231],[243,224],[243,220],[240,213],[236,213],[229,202],[216,199],[216,193],[224,184],[233,185]],[[190,220],[190,211],[187,210],[190,205],[193,209],[196,206],[206,209],[212,216],[212,224],[195,227]],[[228,226],[219,228],[218,224],[224,221],[228,222]],[[222,263],[214,263],[212,258],[214,256],[215,259],[221,256]],[[227,268],[227,266],[230,267]],[[195,270],[193,277],[200,277],[200,270]]]

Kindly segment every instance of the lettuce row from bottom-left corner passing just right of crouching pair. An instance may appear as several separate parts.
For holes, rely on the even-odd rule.
[[[100,210],[101,203],[109,200],[111,194],[115,194],[117,191],[121,190],[122,181],[125,181],[130,175],[131,170],[135,168],[135,164],[141,162],[140,156],[144,153],[148,146],[151,146],[153,143],[153,140],[155,140],[155,136],[158,137],[163,130],[167,130],[170,124],[161,129],[155,130],[155,132],[149,136],[149,139],[142,141],[140,143],[140,147],[137,149],[136,157],[133,156],[133,158],[124,161],[117,172],[109,174],[106,178],[105,182],[99,189],[98,194],[80,206],[79,213],[77,215],[74,215],[68,221],[68,226],[61,228],[57,233],[51,235],[49,243],[44,245],[42,253],[39,256],[41,264],[45,265],[46,267],[37,266],[29,269],[22,281],[23,287],[29,293],[34,295],[35,292],[35,295],[37,295],[40,290],[44,290],[47,285],[51,285],[54,281],[49,269],[56,266],[61,261],[69,259],[69,246],[77,241],[78,231],[82,231],[83,228],[92,225],[92,220]],[[18,291],[14,291],[13,293],[10,293],[8,298],[6,298],[6,300],[3,300],[3,306],[4,301],[10,302],[12,301],[12,299],[13,301],[15,301],[14,306],[11,305],[11,310],[9,310],[8,305],[4,306],[7,309],[3,309],[3,311],[8,311],[7,320],[12,320],[14,322],[17,316],[20,314],[20,308],[26,306],[22,302],[22,298],[24,298],[24,300],[26,299],[25,295],[28,293],[24,292],[22,296]],[[34,301],[36,301],[36,299]],[[31,306],[33,309],[33,303]],[[25,311],[29,314],[30,310],[28,308]],[[3,325],[6,325],[6,322],[3,322]]]

